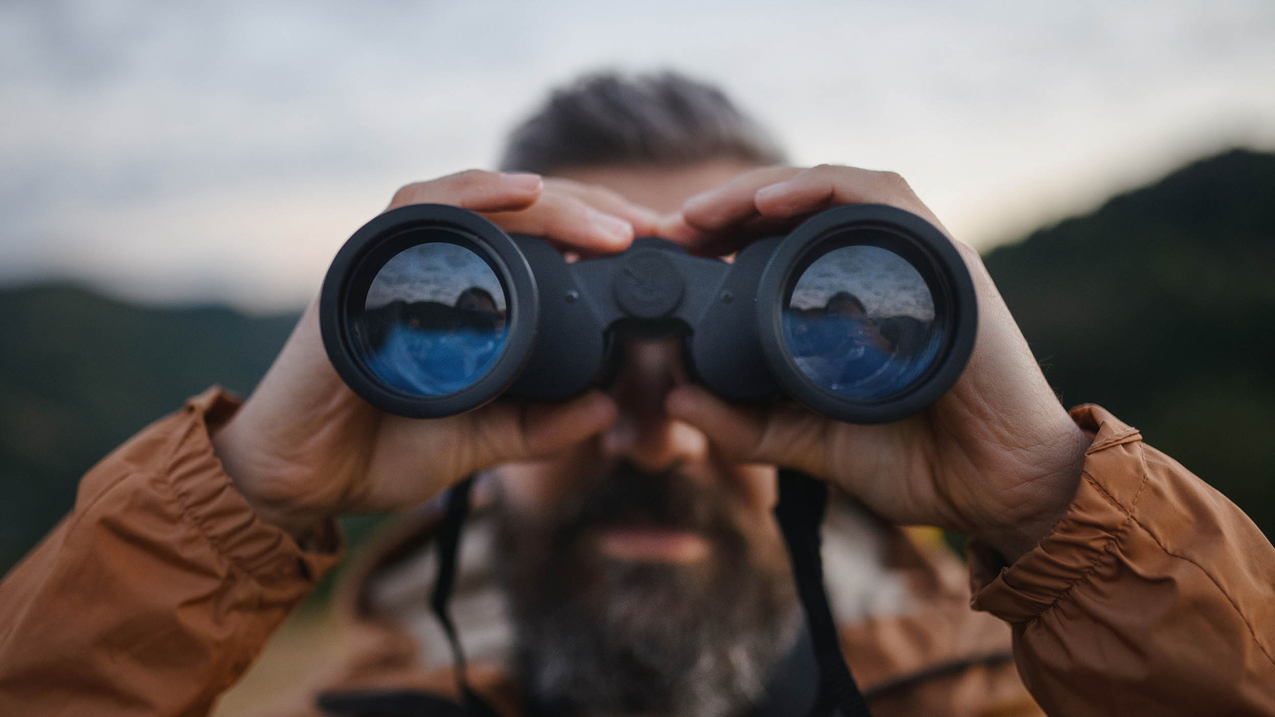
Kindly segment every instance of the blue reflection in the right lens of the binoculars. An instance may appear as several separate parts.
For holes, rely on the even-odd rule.
[[[861,401],[908,388],[942,344],[924,278],[878,246],[844,246],[816,259],[793,287],[783,329],[806,376]]]

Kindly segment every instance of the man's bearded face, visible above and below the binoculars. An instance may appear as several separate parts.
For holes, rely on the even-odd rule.
[[[748,167],[593,168],[658,212]],[[770,466],[728,464],[672,421],[678,339],[627,339],[620,417],[557,457],[504,466],[501,572],[523,677],[552,713],[727,714],[757,697],[793,637],[794,597]]]

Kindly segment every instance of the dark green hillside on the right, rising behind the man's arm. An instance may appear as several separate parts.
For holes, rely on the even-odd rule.
[[[1275,154],[1233,151],[986,258],[1063,403],[1102,403],[1275,535]]]

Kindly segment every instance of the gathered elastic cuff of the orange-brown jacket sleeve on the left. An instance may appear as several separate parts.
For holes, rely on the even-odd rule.
[[[184,514],[231,563],[263,588],[280,591],[279,600],[305,595],[339,559],[340,538],[332,521],[321,523],[303,550],[286,531],[261,521],[244,498],[209,438],[215,426],[238,408],[240,401],[213,387],[186,402],[171,420],[175,443],[166,475]]]

